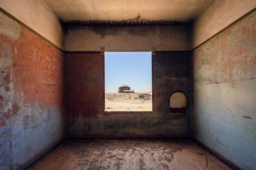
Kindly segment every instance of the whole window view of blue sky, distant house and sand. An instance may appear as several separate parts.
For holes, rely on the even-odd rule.
[[[105,111],[152,111],[151,52],[105,52]]]

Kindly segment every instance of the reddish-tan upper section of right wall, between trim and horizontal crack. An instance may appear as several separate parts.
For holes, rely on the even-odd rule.
[[[193,51],[196,83],[255,79],[256,23],[251,22],[250,26],[233,26]]]

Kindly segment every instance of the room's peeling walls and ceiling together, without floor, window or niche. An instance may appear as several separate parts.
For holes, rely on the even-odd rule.
[[[64,139],[191,138],[256,167],[255,0],[0,0],[0,169]],[[150,112],[105,112],[104,52],[152,51]],[[171,113],[183,91],[188,108]]]

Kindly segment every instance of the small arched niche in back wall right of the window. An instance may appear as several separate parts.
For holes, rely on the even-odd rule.
[[[169,98],[171,113],[186,113],[188,98],[182,91],[175,91]]]

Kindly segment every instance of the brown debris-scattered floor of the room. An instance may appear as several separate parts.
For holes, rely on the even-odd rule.
[[[230,169],[193,140],[65,140],[30,169]]]

